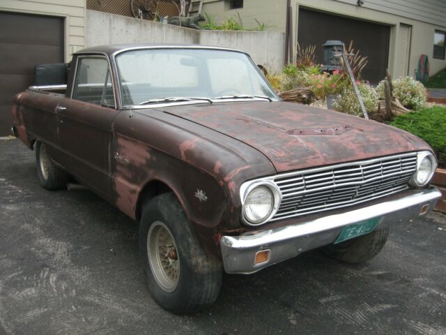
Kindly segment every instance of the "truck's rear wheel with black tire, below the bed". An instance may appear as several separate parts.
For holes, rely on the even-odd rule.
[[[35,150],[36,168],[40,185],[50,191],[66,188],[68,174],[52,162],[45,144],[37,141]]]

